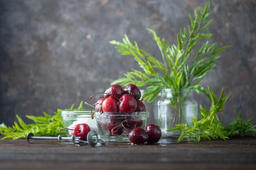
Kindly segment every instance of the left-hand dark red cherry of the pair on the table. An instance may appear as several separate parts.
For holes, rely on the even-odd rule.
[[[142,128],[134,128],[129,134],[129,140],[133,144],[144,144],[148,139],[147,132]]]

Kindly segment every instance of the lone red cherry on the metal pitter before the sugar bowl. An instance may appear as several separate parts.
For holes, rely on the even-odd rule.
[[[88,124],[77,124],[74,126],[71,134],[76,135],[76,137],[81,137],[80,139],[87,140],[87,134],[90,132],[91,128]]]

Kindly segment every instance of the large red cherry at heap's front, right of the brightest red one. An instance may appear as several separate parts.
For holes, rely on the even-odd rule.
[[[137,102],[132,95],[122,95],[120,97],[118,108],[120,112],[133,112],[137,108]]]

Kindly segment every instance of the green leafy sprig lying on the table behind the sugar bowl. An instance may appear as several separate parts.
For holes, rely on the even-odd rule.
[[[84,110],[83,102],[80,103],[78,108],[74,108],[73,104],[71,108],[65,110]],[[7,127],[4,123],[0,124],[0,134],[5,136],[2,139],[24,138],[31,132],[38,136],[66,136],[65,130],[59,130],[60,128],[64,128],[61,111],[61,109],[57,109],[53,116],[45,112],[43,112],[43,116],[26,115],[28,119],[34,121],[34,124],[26,124],[18,115],[16,115],[18,122],[14,121],[12,127]]]

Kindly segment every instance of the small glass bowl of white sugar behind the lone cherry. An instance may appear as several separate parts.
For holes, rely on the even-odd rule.
[[[64,128],[72,129],[76,124],[88,124],[91,130],[95,130],[99,136],[96,119],[92,119],[91,111],[61,111]],[[66,130],[67,137],[70,137],[72,130]]]

